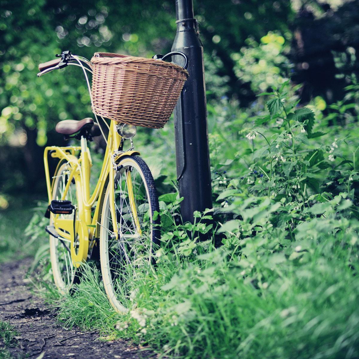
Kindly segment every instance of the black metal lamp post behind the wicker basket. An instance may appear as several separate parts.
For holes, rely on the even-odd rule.
[[[212,208],[203,45],[192,0],[176,0],[176,18],[172,51],[187,55],[190,74],[174,110],[177,180],[184,197],[182,219],[193,223],[194,211]],[[183,59],[174,56],[174,61],[182,64]]]

